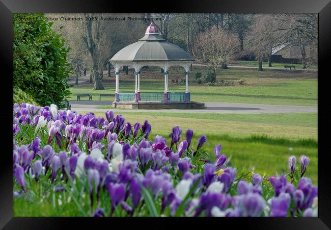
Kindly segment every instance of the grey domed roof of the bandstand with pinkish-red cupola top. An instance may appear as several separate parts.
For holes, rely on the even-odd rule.
[[[145,36],[132,43],[109,60],[110,62],[159,62],[159,61],[194,61],[179,46],[167,42],[159,35],[159,30],[152,21],[147,27]]]

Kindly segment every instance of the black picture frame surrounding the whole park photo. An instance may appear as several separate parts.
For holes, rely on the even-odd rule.
[[[192,226],[234,227],[241,222],[246,229],[329,229],[331,227],[331,177],[329,163],[328,132],[331,112],[329,112],[329,72],[331,63],[331,2],[330,0],[226,0],[226,1],[87,1],[87,0],[0,0],[0,71],[2,76],[2,155],[0,160],[0,227],[4,229],[63,229],[68,227],[90,228],[126,226],[134,224],[144,228],[175,227],[178,218],[131,218],[124,221],[114,218],[13,218],[13,174],[12,174],[12,98],[6,97],[12,91],[12,14],[16,12],[233,12],[233,13],[318,13],[318,218],[181,218],[180,221]],[[8,93],[8,94],[7,94]],[[156,220],[156,221],[155,221]],[[98,222],[96,222],[98,221]],[[208,221],[208,222],[207,222]],[[215,221],[210,223],[210,221]],[[74,222],[75,225],[70,226]],[[70,223],[70,224],[69,224]],[[183,223],[181,223],[183,224]],[[186,224],[186,223],[185,223]],[[226,226],[229,225],[229,226]],[[189,227],[185,225],[185,228]]]

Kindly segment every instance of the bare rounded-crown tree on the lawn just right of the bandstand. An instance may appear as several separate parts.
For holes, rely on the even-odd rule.
[[[192,53],[203,60],[216,77],[216,69],[232,58],[237,48],[238,40],[233,35],[223,29],[213,29],[198,36]]]

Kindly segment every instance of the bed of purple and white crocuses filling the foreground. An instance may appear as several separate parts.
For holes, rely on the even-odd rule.
[[[237,172],[222,145],[175,126],[150,141],[151,125],[133,126],[107,111],[59,111],[55,105],[13,107],[14,202],[41,197],[69,204],[75,216],[311,217],[318,189],[305,177],[309,158],[289,158],[289,172]],[[185,136],[185,139],[183,138]],[[49,201],[51,200],[51,201]],[[41,210],[42,212],[42,210]]]

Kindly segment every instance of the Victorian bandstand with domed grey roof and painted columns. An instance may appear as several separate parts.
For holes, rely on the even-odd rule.
[[[109,60],[114,66],[116,74],[114,107],[131,109],[203,109],[203,103],[190,100],[188,91],[188,71],[194,61],[185,50],[164,40],[159,35],[154,22],[151,22],[143,38],[122,48]],[[123,66],[131,66],[135,71],[134,93],[120,93],[119,70]],[[140,91],[140,70],[144,66],[158,66],[164,70],[164,92]],[[169,91],[168,70],[171,66],[184,68],[185,92]]]

